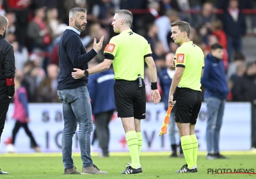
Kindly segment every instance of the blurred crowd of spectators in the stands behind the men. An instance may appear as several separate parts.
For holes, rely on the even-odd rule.
[[[158,74],[166,67],[166,54],[175,53],[179,47],[170,38],[170,24],[185,20],[191,24],[190,40],[203,49],[205,56],[216,42],[224,47],[230,88],[227,100],[255,102],[255,0],[0,0],[0,14],[10,24],[6,40],[13,45],[16,68],[29,102],[61,102],[56,93],[58,43],[68,26],[68,12],[74,7],[88,10],[88,24],[80,35],[87,51],[93,48],[93,38],[99,40],[104,35],[102,50],[90,66],[104,60],[104,47],[116,35],[111,26],[115,10],[131,10],[132,30],[150,43]],[[147,68],[145,82],[150,101]]]

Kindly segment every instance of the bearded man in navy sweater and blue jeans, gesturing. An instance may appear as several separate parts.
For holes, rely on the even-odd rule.
[[[64,129],[61,138],[61,150],[64,164],[64,174],[80,174],[74,167],[72,159],[72,137],[79,124],[79,146],[83,160],[82,174],[108,174],[100,171],[93,164],[90,150],[90,136],[93,130],[92,107],[86,87],[88,77],[79,80],[73,79],[73,68],[88,69],[88,62],[93,59],[100,49],[104,37],[96,43],[94,38],[93,49],[87,52],[79,35],[87,24],[86,9],[73,8],[69,12],[69,26],[66,27],[60,39],[60,77],[58,79],[58,95],[63,102]]]

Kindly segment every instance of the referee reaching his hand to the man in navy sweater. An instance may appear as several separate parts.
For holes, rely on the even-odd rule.
[[[111,38],[104,49],[105,59],[88,70],[77,70],[72,76],[75,79],[84,75],[96,74],[107,70],[113,63],[115,71],[115,105],[118,117],[121,118],[132,162],[121,174],[142,173],[140,150],[142,146],[141,119],[146,117],[146,97],[144,78],[144,60],[150,70],[152,100],[159,103],[161,97],[157,89],[156,65],[147,40],[134,33],[130,27],[132,13],[128,10],[117,10],[112,26],[120,35]]]

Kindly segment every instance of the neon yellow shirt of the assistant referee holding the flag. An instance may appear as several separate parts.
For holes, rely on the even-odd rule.
[[[176,67],[184,71],[179,87],[201,91],[201,74],[204,68],[204,52],[192,41],[183,43],[176,51]]]

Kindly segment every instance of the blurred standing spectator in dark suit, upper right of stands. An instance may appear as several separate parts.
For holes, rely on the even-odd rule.
[[[246,33],[244,14],[238,8],[237,0],[230,0],[227,10],[223,13],[223,29],[227,34],[229,62],[233,49],[242,52],[242,36]]]

